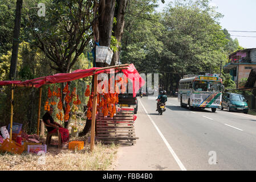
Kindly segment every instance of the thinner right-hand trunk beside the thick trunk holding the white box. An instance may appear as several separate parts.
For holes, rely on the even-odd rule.
[[[117,1],[118,9],[117,9],[117,17],[116,17],[116,26],[114,27],[114,36],[118,42],[121,42],[124,33],[124,14],[127,8],[128,0],[120,0]],[[120,47],[117,46],[118,51],[113,53],[113,59],[111,65],[117,65],[119,63],[120,57]]]

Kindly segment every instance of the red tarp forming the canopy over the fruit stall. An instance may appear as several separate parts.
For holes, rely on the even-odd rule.
[[[121,68],[127,68],[127,69],[121,69],[121,71],[124,73],[124,75],[129,78],[131,81],[133,81],[133,97],[136,97],[137,91],[145,84],[145,81],[140,76],[139,72],[136,70],[135,66],[133,64],[128,65],[127,67],[121,67]],[[44,84],[55,84],[60,82],[68,82],[73,80],[78,80],[80,78],[92,76],[95,74],[100,74],[104,72],[110,72],[112,69],[104,69],[101,71],[97,71],[97,67],[90,68],[90,69],[78,69],[72,73],[58,73],[56,75],[52,76],[44,76],[35,78],[32,80],[26,80],[26,81],[0,81],[0,85],[35,85],[36,88],[39,88],[40,86]],[[114,69],[114,68],[113,68]]]

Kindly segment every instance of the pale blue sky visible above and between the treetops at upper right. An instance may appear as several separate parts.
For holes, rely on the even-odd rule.
[[[170,2],[165,0],[162,4],[159,0],[159,11]],[[256,1],[255,0],[212,0],[210,5],[217,6],[217,11],[224,15],[220,19],[222,28],[229,30],[231,38],[238,39],[240,46],[245,48],[256,48]],[[255,31],[250,32],[231,32],[231,31]],[[255,36],[255,38],[239,37]]]

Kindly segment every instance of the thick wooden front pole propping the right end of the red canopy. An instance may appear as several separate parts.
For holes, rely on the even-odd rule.
[[[94,143],[95,143],[96,106],[97,106],[97,75],[94,75],[94,101],[92,102],[91,151],[94,150]]]

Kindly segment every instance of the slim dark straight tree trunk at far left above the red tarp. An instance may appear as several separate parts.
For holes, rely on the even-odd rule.
[[[14,31],[13,31],[13,51],[11,52],[11,67],[10,67],[10,73],[9,73],[10,80],[16,79],[18,51],[19,51],[19,32],[21,30],[21,10],[22,10],[22,0],[17,0],[15,24],[14,24]]]

